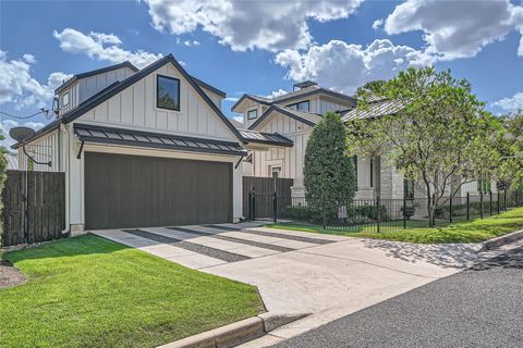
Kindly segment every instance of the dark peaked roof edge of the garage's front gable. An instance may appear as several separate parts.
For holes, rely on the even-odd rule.
[[[102,89],[92,98],[85,100],[82,102],[77,108],[69,111],[68,113],[62,115],[62,122],[63,123],[70,123],[81,115],[85,114],[87,111],[98,107],[109,98],[115,96],[117,94],[121,92],[125,88],[134,85],[136,82],[141,80],[145,76],[151,74],[156,70],[160,69],[167,63],[173,64],[177,70],[182,74],[182,76],[188,82],[188,84],[194,88],[194,90],[204,99],[204,101],[209,105],[210,109],[212,109],[216,114],[223,121],[223,123],[229,127],[229,129],[236,136],[236,138],[245,142],[245,139],[242,137],[242,135],[238,132],[238,129],[229,122],[229,119],[226,117],[226,115],[221,112],[221,110],[210,100],[210,98],[205,94],[205,91],[202,90],[202,88],[198,86],[198,84],[194,80],[194,78],[187,74],[187,72],[183,69],[182,65],[174,59],[174,55],[168,54],[153,64],[147,65],[146,67],[138,71],[136,74],[131,75],[130,77],[125,78],[122,82],[114,83],[107,87],[106,89]]]

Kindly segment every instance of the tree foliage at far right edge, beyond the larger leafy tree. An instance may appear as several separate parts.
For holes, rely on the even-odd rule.
[[[523,110],[500,117],[506,136],[499,144],[499,178],[512,190],[523,189]]]

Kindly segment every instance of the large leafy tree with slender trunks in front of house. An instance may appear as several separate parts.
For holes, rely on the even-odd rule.
[[[349,126],[352,151],[381,156],[416,182],[426,197],[429,226],[435,210],[465,183],[489,178],[499,164],[494,146],[502,136],[499,121],[484,110],[466,79],[450,71],[411,67],[385,84],[358,94],[358,110],[378,97],[396,105],[390,114],[360,119]]]

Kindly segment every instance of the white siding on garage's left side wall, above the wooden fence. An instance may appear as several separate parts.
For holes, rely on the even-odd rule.
[[[25,146],[27,152],[38,162],[51,161],[51,166],[47,164],[33,164],[33,171],[37,172],[60,172],[59,161],[59,130],[50,132],[49,134],[31,141]],[[19,170],[27,170],[27,157],[22,147],[19,148]]]

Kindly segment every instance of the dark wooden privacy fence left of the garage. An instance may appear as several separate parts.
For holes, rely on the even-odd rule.
[[[65,228],[65,174],[8,171],[3,247],[60,238]]]

